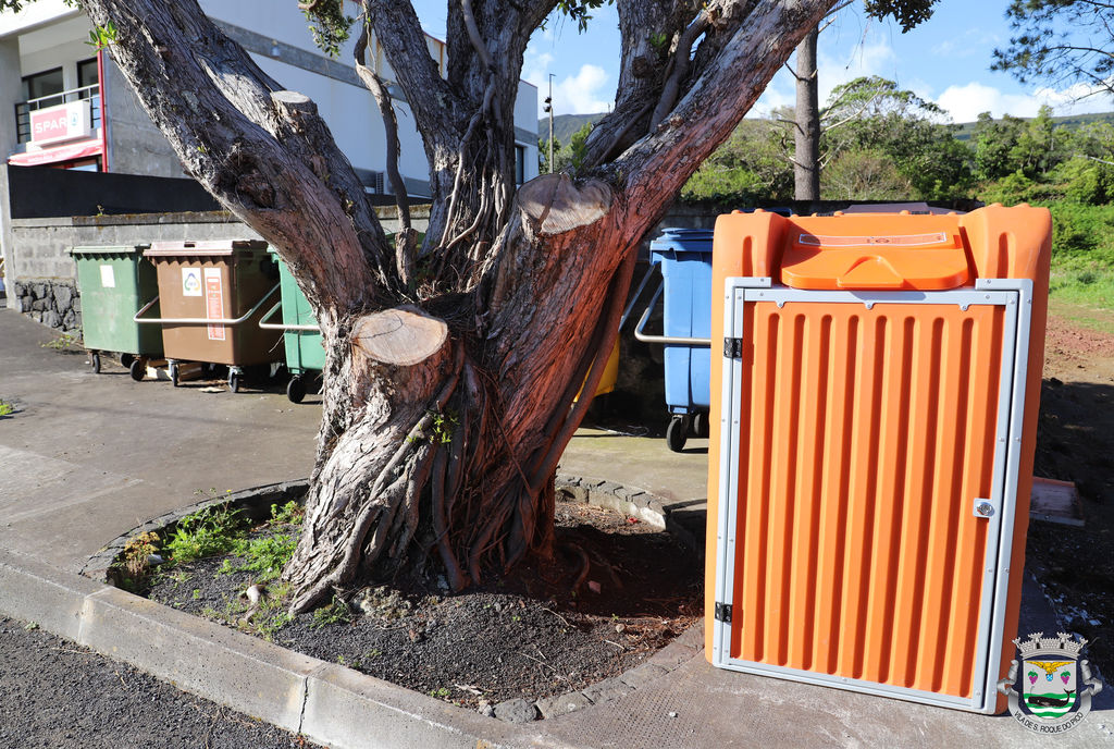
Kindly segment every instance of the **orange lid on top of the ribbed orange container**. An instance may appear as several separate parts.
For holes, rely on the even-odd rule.
[[[916,221],[917,218],[928,220]],[[954,216],[814,218],[788,232],[781,281],[811,290],[942,290],[971,273]],[[846,233],[844,233],[846,232]]]

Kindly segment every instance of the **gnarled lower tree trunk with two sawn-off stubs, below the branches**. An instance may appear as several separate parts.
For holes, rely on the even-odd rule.
[[[453,590],[489,563],[549,553],[553,473],[580,417],[571,402],[585,371],[586,390],[598,383],[633,268],[631,252],[578,252],[614,241],[612,204],[605,184],[565,175],[519,192],[512,246],[477,292],[487,335],[461,298],[440,319],[365,315],[330,346],[351,353],[324,398],[345,400],[336,410],[355,421],[314,471],[287,571],[295,610],[434,552]]]

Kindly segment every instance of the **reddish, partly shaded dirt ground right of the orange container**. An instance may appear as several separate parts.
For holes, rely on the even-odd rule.
[[[1114,318],[1114,313],[1111,313]],[[1074,481],[1083,527],[1029,524],[1027,565],[1114,678],[1114,334],[1049,317],[1034,473]]]

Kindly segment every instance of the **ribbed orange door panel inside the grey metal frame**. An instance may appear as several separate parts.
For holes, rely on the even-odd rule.
[[[746,304],[733,658],[971,696],[1004,324]]]

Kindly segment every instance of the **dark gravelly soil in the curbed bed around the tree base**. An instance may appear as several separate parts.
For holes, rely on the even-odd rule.
[[[670,534],[575,502],[559,499],[556,515],[550,564],[519,565],[510,577],[457,595],[443,578],[350,591],[323,613],[275,628],[281,607],[261,609],[245,621],[248,603],[240,593],[253,576],[217,574],[223,556],[159,574],[148,595],[485,711],[618,675],[700,615],[700,560]]]

